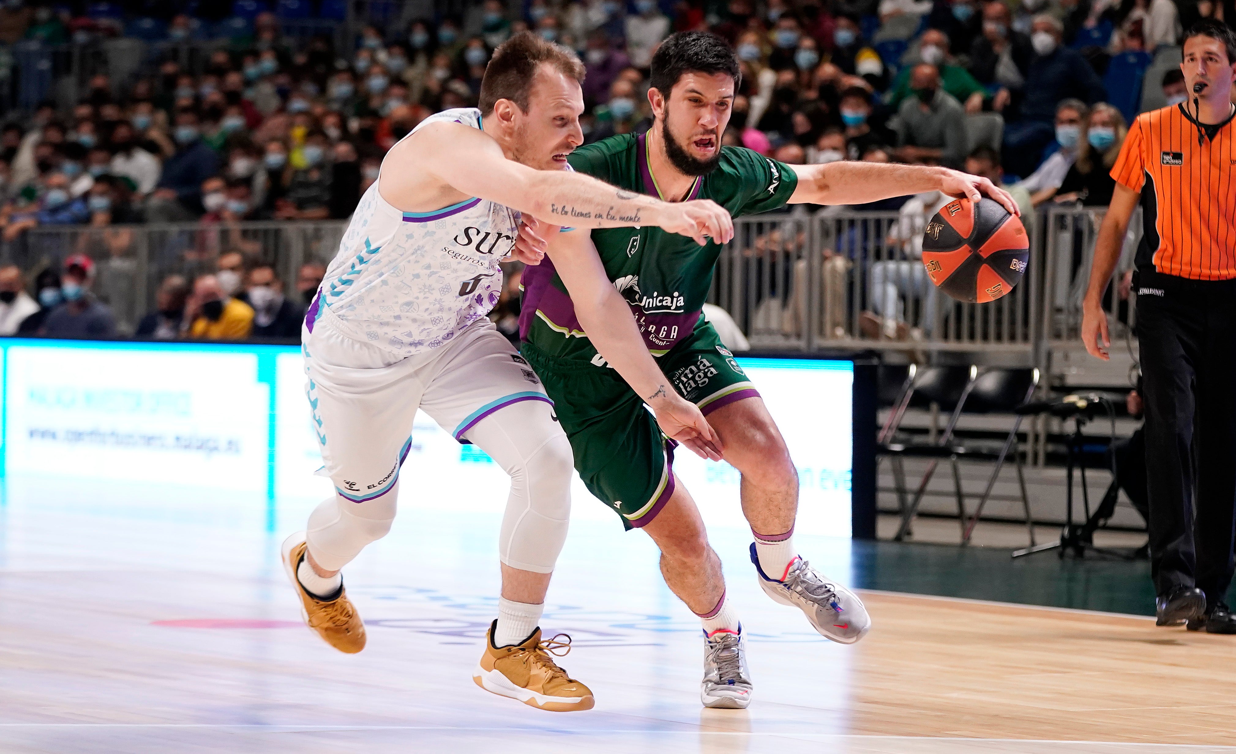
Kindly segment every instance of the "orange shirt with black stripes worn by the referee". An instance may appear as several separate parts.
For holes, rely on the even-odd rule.
[[[1141,192],[1145,235],[1138,269],[1195,281],[1236,278],[1236,148],[1229,116],[1203,126],[1173,105],[1142,112],[1111,169]]]

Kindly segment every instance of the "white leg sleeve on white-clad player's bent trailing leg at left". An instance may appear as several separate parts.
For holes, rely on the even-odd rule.
[[[321,502],[309,514],[307,538],[314,561],[328,571],[337,571],[356,557],[365,545],[391,530],[394,520],[399,482],[379,498],[353,503],[340,496]]]

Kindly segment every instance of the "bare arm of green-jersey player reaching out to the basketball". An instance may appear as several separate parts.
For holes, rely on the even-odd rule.
[[[986,178],[948,168],[843,161],[796,164],[794,172],[798,174],[798,188],[790,197],[790,204],[866,204],[890,197],[943,192],[971,201],[985,194],[1011,214],[1020,214],[1009,192]]]

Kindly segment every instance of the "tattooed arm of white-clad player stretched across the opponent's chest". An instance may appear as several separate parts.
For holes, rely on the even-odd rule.
[[[724,244],[734,225],[713,201],[666,203],[625,192],[572,171],[536,171],[513,159],[486,133],[457,124],[426,126],[415,145],[419,166],[470,197],[489,199],[535,218],[572,227],[655,225]],[[410,141],[410,140],[409,140]]]

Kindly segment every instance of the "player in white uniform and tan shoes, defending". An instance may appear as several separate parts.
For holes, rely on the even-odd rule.
[[[701,244],[733,236],[712,201],[662,203],[569,169],[566,155],[583,141],[582,79],[574,53],[517,35],[494,51],[480,109],[439,112],[387,155],[302,333],[319,473],[335,494],[282,548],[310,628],[340,651],[363,649],[340,569],[389,530],[413,417],[425,412],[512,481],[498,618],[473,679],[550,711],[593,703],[550,654],[565,645],[541,642],[538,625],[566,538],[571,446],[536,375],[486,319],[502,288],[498,263],[508,253],[539,261],[535,245],[520,240],[522,214],[576,227],[654,225]],[[664,383],[622,297],[604,293],[613,287],[599,262],[590,288],[572,292],[577,307],[616,323],[624,342],[607,354],[646,371],[649,386]],[[669,436],[721,457],[708,423],[674,389],[650,387],[649,405]]]

